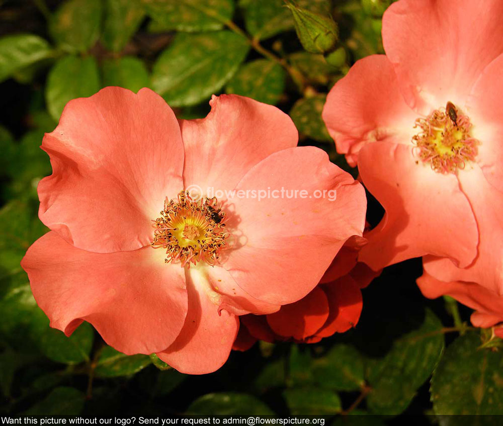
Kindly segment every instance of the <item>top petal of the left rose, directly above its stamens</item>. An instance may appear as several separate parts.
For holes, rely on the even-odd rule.
[[[292,120],[272,105],[237,95],[213,96],[210,105],[206,118],[180,122],[186,188],[232,189],[268,155],[297,145]]]

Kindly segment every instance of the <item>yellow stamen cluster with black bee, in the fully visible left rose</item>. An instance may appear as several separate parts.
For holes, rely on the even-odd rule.
[[[224,219],[216,198],[197,202],[181,191],[178,203],[166,197],[160,217],[152,220],[155,230],[150,245],[166,250],[166,263],[190,267],[204,261],[215,265],[228,236]]]

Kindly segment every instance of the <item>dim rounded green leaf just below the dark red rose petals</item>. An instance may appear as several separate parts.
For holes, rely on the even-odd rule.
[[[313,374],[321,387],[357,391],[365,384],[364,358],[354,347],[338,344],[314,361]]]

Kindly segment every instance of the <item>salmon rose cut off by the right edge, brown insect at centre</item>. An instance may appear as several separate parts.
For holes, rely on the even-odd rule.
[[[503,2],[400,0],[382,36],[386,55],[358,61],[323,110],[385,209],[360,260],[429,254],[436,278],[502,294]]]

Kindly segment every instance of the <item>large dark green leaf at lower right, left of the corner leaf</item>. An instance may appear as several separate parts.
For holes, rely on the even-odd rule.
[[[376,414],[399,414],[428,379],[444,350],[442,323],[429,309],[422,324],[394,340],[380,359],[369,359],[367,380],[372,391],[368,408]]]

